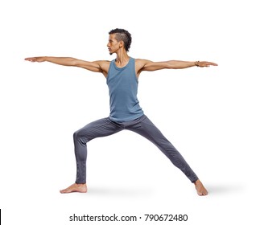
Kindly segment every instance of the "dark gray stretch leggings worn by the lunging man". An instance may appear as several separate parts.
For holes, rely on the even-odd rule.
[[[74,133],[76,183],[86,182],[87,142],[96,137],[105,137],[118,133],[123,129],[134,131],[135,133],[146,137],[149,141],[155,144],[191,182],[196,182],[198,179],[196,174],[192,171],[190,166],[188,166],[188,163],[184,160],[181,154],[173,145],[171,145],[171,142],[163,136],[159,129],[157,129],[155,125],[143,115],[134,121],[122,123],[110,121],[109,117],[107,117],[98,121],[93,121]]]

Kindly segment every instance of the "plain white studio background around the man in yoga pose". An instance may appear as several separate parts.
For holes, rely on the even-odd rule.
[[[144,214],[188,215],[174,224],[253,224],[253,2],[1,1],[2,223],[82,224],[68,217],[116,213],[142,216],[129,224],[152,224]],[[196,171],[207,197],[128,131],[89,142],[87,194],[59,193],[75,180],[72,133],[108,116],[108,89],[101,74],[23,59],[114,59],[106,44],[116,27],[132,34],[134,58],[219,64],[144,72],[138,90],[144,112]]]

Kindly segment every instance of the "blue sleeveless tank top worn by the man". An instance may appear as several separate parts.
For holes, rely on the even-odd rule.
[[[106,80],[109,87],[109,119],[116,122],[133,121],[142,117],[138,104],[138,78],[135,74],[135,59],[130,58],[123,68],[118,68],[115,60],[110,62]]]

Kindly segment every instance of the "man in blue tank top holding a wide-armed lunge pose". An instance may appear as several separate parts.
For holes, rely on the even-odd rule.
[[[217,66],[210,62],[187,62],[171,60],[166,62],[152,62],[146,59],[133,59],[127,52],[130,49],[131,35],[123,29],[114,29],[109,32],[107,47],[109,54],[116,54],[113,61],[88,62],[70,57],[32,57],[25,60],[31,62],[51,62],[63,66],[85,68],[92,72],[101,72],[109,87],[109,117],[93,121],[89,125],[74,133],[74,145],[76,155],[76,182],[60,193],[87,192],[86,186],[86,157],[87,142],[96,137],[105,137],[118,133],[123,129],[134,131],[146,137],[155,144],[171,162],[177,166],[188,179],[195,184],[197,194],[206,195],[200,179],[185,162],[181,154],[171,145],[170,141],[153,125],[144,115],[138,104],[138,76],[143,71],[156,71],[160,69],[181,69],[194,66],[203,68]]]

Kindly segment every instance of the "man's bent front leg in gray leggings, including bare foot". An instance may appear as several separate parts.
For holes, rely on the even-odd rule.
[[[109,118],[104,118],[98,121],[93,121],[84,128],[79,129],[73,135],[76,155],[76,182],[60,193],[70,192],[86,192],[86,158],[87,158],[87,143],[96,137],[106,137],[114,133],[118,133],[123,128],[122,126],[110,121]]]

